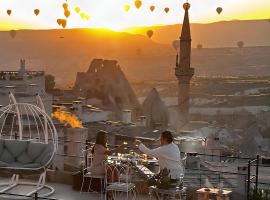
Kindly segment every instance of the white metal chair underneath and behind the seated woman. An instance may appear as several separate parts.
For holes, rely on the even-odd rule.
[[[89,164],[88,164],[88,166],[86,165],[85,168],[83,169],[83,181],[82,181],[82,185],[81,185],[81,193],[84,191],[84,185],[86,183],[86,179],[89,179],[89,185],[88,185],[87,192],[100,194],[100,198],[103,199],[105,174],[104,175],[96,175],[90,171],[91,165],[93,163],[93,154],[91,153],[92,148],[93,148],[93,146],[90,146],[89,148],[86,148],[85,150],[83,150]],[[104,168],[105,168],[105,166],[104,166]],[[100,191],[96,191],[91,187],[94,179],[99,181]]]

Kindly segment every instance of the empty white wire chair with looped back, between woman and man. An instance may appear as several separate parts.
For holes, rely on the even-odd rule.
[[[136,186],[131,182],[131,167],[128,164],[106,163],[105,193],[106,198],[112,195],[117,199],[117,195],[126,195],[126,199],[136,199]]]

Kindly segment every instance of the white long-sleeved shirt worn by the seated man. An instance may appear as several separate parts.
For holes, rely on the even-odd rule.
[[[139,149],[143,153],[157,158],[160,169],[167,168],[170,170],[171,179],[179,179],[180,174],[184,172],[180,150],[176,144],[170,143],[156,149],[149,149],[141,143]]]

